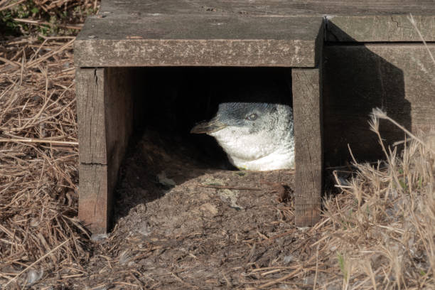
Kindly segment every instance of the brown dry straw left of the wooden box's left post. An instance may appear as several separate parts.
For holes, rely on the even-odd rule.
[[[74,38],[16,39],[0,65],[0,284],[87,258],[77,215]],[[23,274],[21,273],[21,274]],[[21,275],[20,274],[20,275]],[[25,278],[25,277],[24,277]],[[21,285],[22,286],[22,285]]]

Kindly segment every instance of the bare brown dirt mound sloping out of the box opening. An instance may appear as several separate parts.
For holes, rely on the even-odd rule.
[[[92,274],[64,287],[312,289],[314,271],[275,281],[301,261],[316,266],[316,230],[294,227],[294,172],[213,168],[201,157],[181,137],[146,131],[122,166],[113,232],[92,236],[82,269]]]

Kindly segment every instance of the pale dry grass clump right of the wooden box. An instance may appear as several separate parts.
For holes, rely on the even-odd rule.
[[[354,163],[343,194],[326,200],[326,248],[336,251],[343,289],[434,289],[435,134],[386,149],[374,110],[370,127],[385,161]],[[333,251],[331,251],[333,252]]]

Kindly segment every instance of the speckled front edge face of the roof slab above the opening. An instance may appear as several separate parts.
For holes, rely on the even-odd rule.
[[[102,40],[76,41],[75,49],[80,66],[316,65],[314,41]]]

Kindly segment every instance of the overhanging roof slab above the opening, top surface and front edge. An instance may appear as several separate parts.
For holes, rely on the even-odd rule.
[[[107,16],[109,18],[110,16]],[[89,18],[75,41],[77,66],[316,65],[321,17],[153,16]]]

